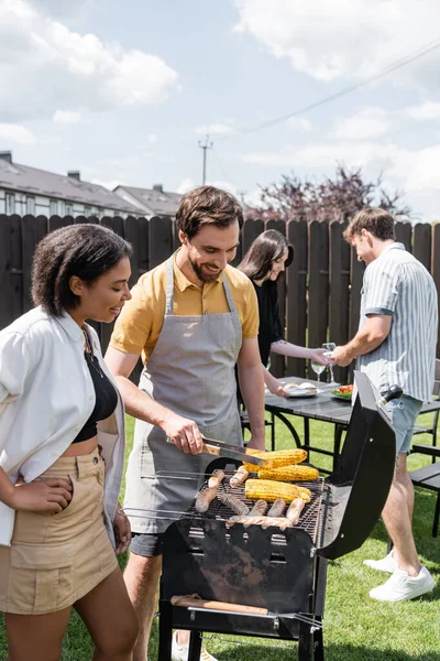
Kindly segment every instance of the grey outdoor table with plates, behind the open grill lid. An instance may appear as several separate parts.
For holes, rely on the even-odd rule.
[[[349,425],[352,413],[350,400],[344,401],[334,399],[331,394],[331,391],[338,388],[338,386],[331,386],[330,383],[326,383],[323,381],[318,382],[311,379],[302,379],[300,377],[286,377],[285,379],[279,379],[279,381],[283,384],[290,382],[300,384],[304,381],[307,381],[308,383],[312,383],[318,389],[317,395],[308,398],[285,398],[266,392],[264,405],[266,411],[271,413],[273,423],[275,422],[274,419],[277,418],[287,426],[298,447],[304,447],[304,449],[307,452],[312,451],[333,457],[332,470],[334,472],[339,455],[341,453],[342,434]],[[433,413],[439,409],[440,400],[433,400],[429,404],[424,404],[420,413]],[[304,443],[301,443],[298,432],[296,431],[292,421],[288,420],[287,415],[298,415],[304,419]],[[330,422],[334,425],[332,451],[311,445],[309,430],[310,420]],[[330,473],[329,470],[321,468],[320,470],[322,473]]]

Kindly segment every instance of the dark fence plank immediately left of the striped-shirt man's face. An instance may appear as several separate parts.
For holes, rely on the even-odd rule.
[[[330,310],[329,342],[337,345],[349,339],[350,246],[342,234],[346,224],[330,223]],[[348,369],[333,368],[334,379],[345,383]]]

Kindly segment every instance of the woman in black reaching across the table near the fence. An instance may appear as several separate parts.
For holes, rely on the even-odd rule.
[[[288,397],[288,393],[267,369],[271,351],[295,358],[308,358],[322,365],[329,362],[323,356],[327,349],[307,349],[284,339],[276,281],[293,260],[294,247],[288,243],[286,237],[275,229],[268,229],[253,241],[239,264],[240,271],[251,279],[258,299],[258,347],[264,382],[273,394],[283,397]]]

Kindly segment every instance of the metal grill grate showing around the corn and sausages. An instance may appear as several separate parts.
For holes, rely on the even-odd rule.
[[[238,498],[240,498],[240,500],[242,502],[245,502],[248,505],[248,507],[251,509],[254,506],[255,501],[250,500],[244,497],[244,484],[232,489],[229,486],[229,480],[232,477],[233,472],[229,473],[229,472],[224,470],[224,474],[226,474],[226,477],[224,477],[223,481],[221,483],[218,492],[237,496]],[[249,477],[257,477],[257,474],[251,473]],[[323,522],[328,516],[327,509],[322,508],[322,495],[324,494],[324,488],[326,488],[324,480],[323,480],[323,478],[320,477],[315,481],[310,481],[310,483],[301,481],[298,484],[300,484],[301,487],[307,487],[307,489],[310,489],[311,500],[310,500],[310,502],[306,503],[306,506],[302,510],[299,523],[295,528],[300,528],[301,530],[305,530],[312,539],[314,544],[317,545],[318,541],[321,539]],[[204,481],[204,485],[200,490],[205,491],[205,489],[207,489],[207,488],[208,488],[208,479],[206,479]],[[228,519],[230,519],[233,516],[233,512],[228,507],[222,505],[218,498],[215,498],[210,502],[208,511],[202,514],[200,512],[196,511],[195,502],[196,501],[194,500],[190,508],[182,517],[185,519],[190,518],[193,520],[194,529],[195,529],[195,530],[193,530],[193,534],[195,537],[197,537],[197,532],[196,532],[197,528],[198,528],[197,520],[216,519],[217,521],[227,521]],[[326,511],[322,511],[323,509],[326,509]],[[284,539],[284,534],[283,534],[283,532],[279,532],[279,534],[274,535],[274,538],[276,538],[277,542],[282,543],[282,540]],[[278,538],[280,538],[280,539],[278,540]]]

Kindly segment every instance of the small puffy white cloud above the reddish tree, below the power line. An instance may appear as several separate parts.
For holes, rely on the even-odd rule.
[[[341,140],[371,140],[388,132],[392,115],[382,108],[362,108],[351,117],[338,117],[331,138]]]

